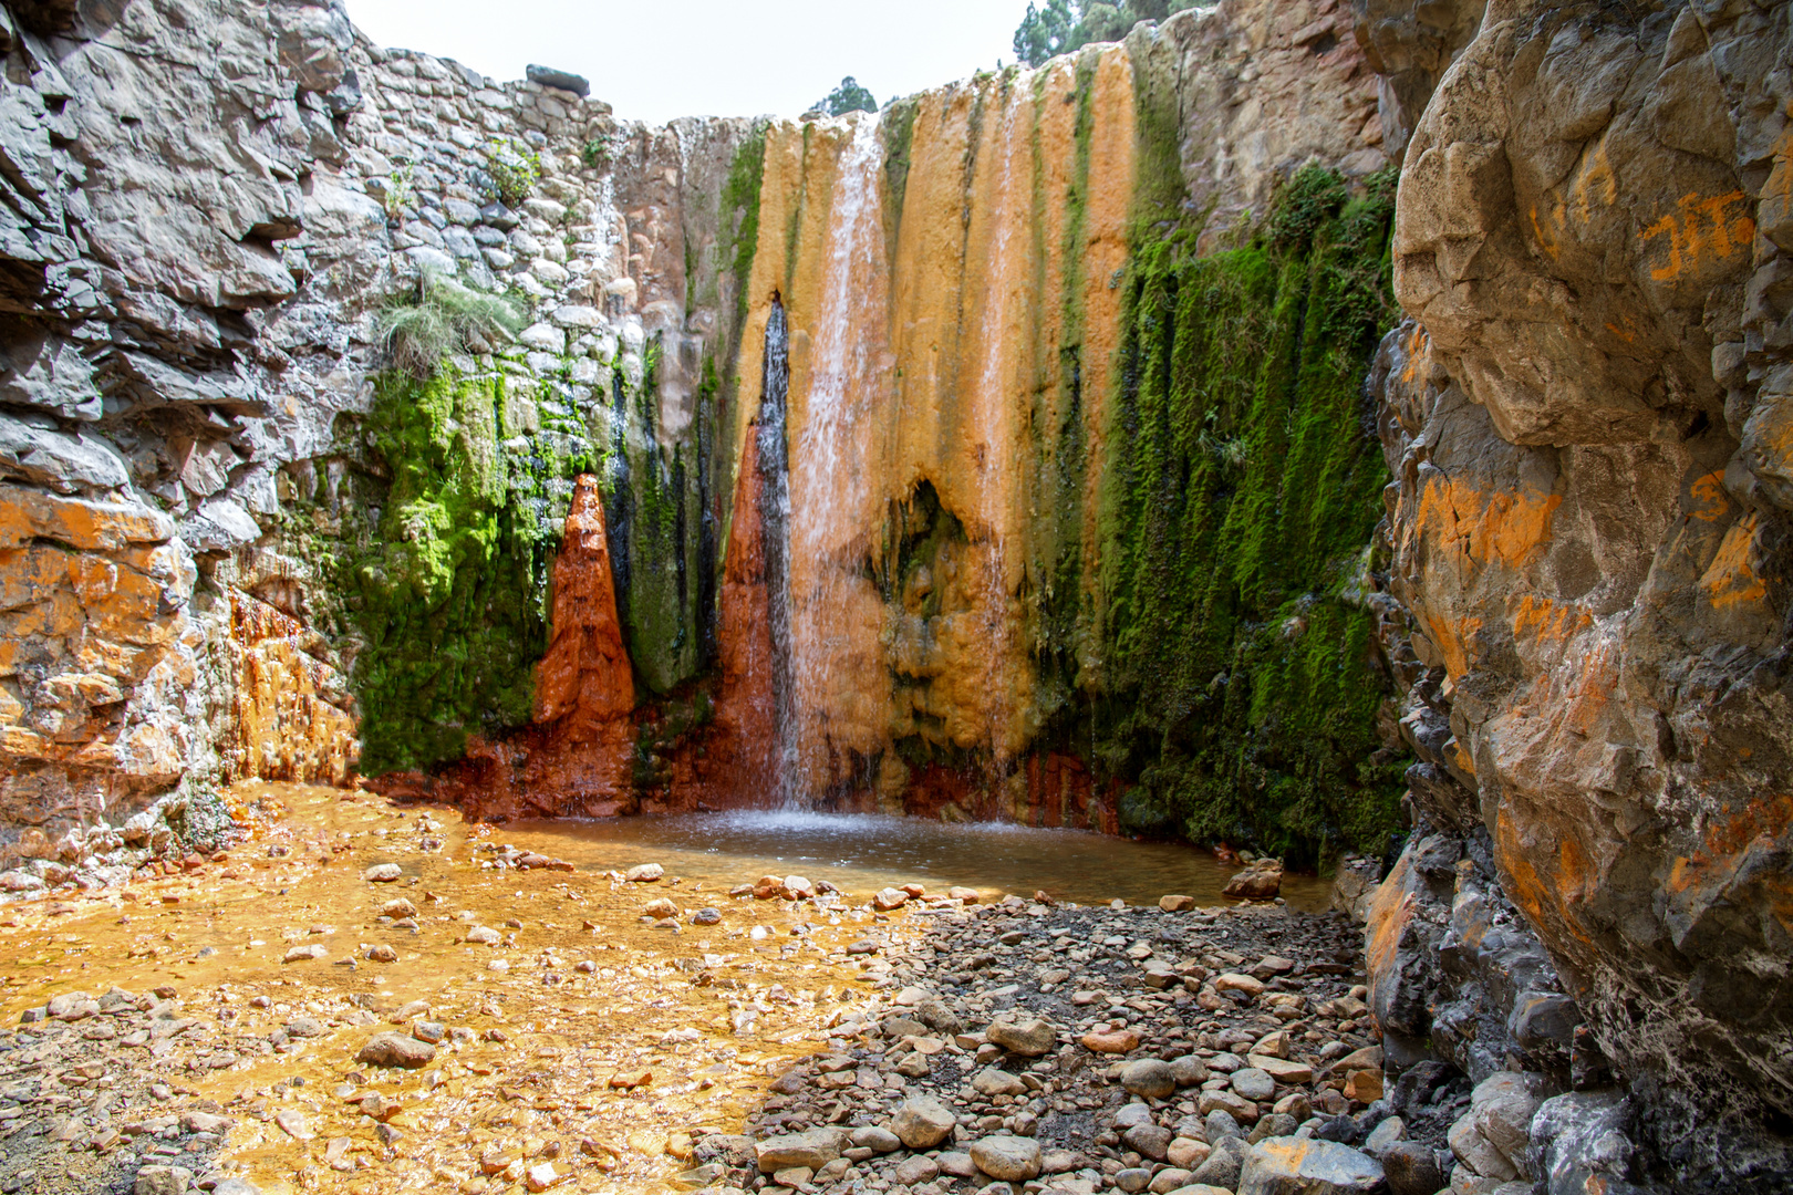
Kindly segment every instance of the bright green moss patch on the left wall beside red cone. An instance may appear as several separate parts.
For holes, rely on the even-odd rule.
[[[385,494],[337,570],[368,774],[454,760],[470,733],[529,720],[559,527],[533,502],[552,469],[502,455],[504,408],[500,376],[375,385],[366,451]]]

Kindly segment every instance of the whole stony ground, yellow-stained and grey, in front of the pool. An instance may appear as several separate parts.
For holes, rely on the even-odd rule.
[[[705,892],[235,795],[230,853],[0,916],[0,1195],[1433,1195],[1470,1109],[1382,1089],[1339,914]]]

